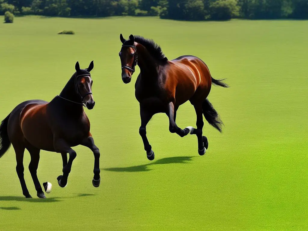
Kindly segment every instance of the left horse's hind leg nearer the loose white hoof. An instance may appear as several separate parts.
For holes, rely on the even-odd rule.
[[[35,190],[37,192],[36,195],[39,198],[46,198],[42,190],[41,184],[39,183],[38,176],[37,176],[37,169],[39,166],[39,158],[40,158],[39,156],[40,149],[35,148],[33,146],[28,146],[27,150],[29,151],[30,156],[31,156],[31,161],[29,164],[29,171],[30,171],[33,183],[34,183]]]

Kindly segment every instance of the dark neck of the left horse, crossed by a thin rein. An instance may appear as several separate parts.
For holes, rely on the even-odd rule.
[[[71,111],[76,114],[76,113],[83,112],[83,105],[78,104],[82,102],[81,102],[79,95],[76,92],[75,76],[76,76],[76,73],[67,82],[67,84],[65,85],[65,87],[63,88],[59,96],[64,98],[64,99],[61,99],[60,102],[66,108],[66,111]],[[70,102],[65,99],[71,100],[76,103]]]

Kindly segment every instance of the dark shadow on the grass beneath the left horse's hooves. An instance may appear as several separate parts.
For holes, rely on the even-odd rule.
[[[22,201],[22,202],[32,202],[32,203],[50,203],[50,202],[59,202],[62,201],[61,199],[69,199],[69,198],[76,198],[76,197],[89,197],[89,196],[95,196],[95,194],[89,194],[89,193],[81,193],[77,194],[76,196],[72,197],[50,197],[50,198],[25,198],[25,197],[16,197],[16,196],[0,196],[0,201]],[[11,208],[11,209],[10,209]],[[0,209],[5,210],[18,210],[20,208],[18,207],[0,207]]]

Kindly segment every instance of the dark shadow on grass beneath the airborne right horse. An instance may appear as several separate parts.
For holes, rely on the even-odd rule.
[[[104,168],[106,171],[112,172],[147,172],[152,169],[148,168],[148,166],[156,165],[156,164],[187,164],[188,161],[191,161],[194,156],[174,156],[174,157],[166,157],[163,159],[156,160],[154,162],[148,164],[142,164],[131,167],[123,167],[123,168]]]

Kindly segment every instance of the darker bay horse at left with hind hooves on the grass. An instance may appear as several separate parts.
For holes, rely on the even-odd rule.
[[[39,165],[40,150],[61,153],[63,175],[58,176],[60,187],[67,185],[76,152],[71,148],[83,145],[94,153],[94,177],[92,184],[99,187],[99,149],[95,146],[90,133],[90,122],[83,107],[92,109],[94,100],[91,91],[90,71],[93,61],[86,69],[75,64],[76,72],[67,82],[60,95],[51,102],[28,100],[20,103],[6,116],[0,125],[0,157],[13,145],[16,154],[16,172],[26,198],[31,198],[24,179],[23,156],[25,148],[29,151],[31,161],[29,170],[34,182],[37,196],[46,198],[39,183],[36,171]],[[69,159],[67,161],[67,153]],[[46,185],[43,185],[46,191]]]

